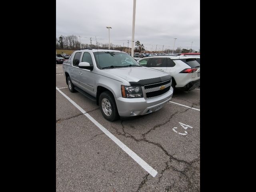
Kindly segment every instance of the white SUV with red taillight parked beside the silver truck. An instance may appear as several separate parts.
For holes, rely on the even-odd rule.
[[[191,91],[200,86],[200,58],[193,56],[151,56],[140,59],[141,66],[170,73],[172,87]]]

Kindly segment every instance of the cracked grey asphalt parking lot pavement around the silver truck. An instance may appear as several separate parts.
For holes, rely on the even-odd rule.
[[[154,113],[108,122],[96,102],[68,90],[56,64],[56,191],[200,191],[200,88],[177,90]]]

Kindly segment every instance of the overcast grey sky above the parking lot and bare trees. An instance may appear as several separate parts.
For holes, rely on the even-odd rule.
[[[56,0],[56,37],[81,35],[81,42],[131,47],[133,0]],[[136,0],[135,35],[146,50],[174,46],[200,49],[200,0]]]

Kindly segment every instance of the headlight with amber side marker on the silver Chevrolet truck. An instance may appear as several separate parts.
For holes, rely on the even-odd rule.
[[[122,97],[124,98],[140,98],[143,97],[142,88],[140,86],[124,86],[121,85]]]

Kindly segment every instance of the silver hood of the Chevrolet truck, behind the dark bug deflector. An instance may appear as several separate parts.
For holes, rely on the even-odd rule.
[[[148,67],[124,67],[104,69],[104,71],[119,76],[130,83],[153,78],[162,81],[162,77],[165,76],[169,76],[170,78],[170,74]]]

